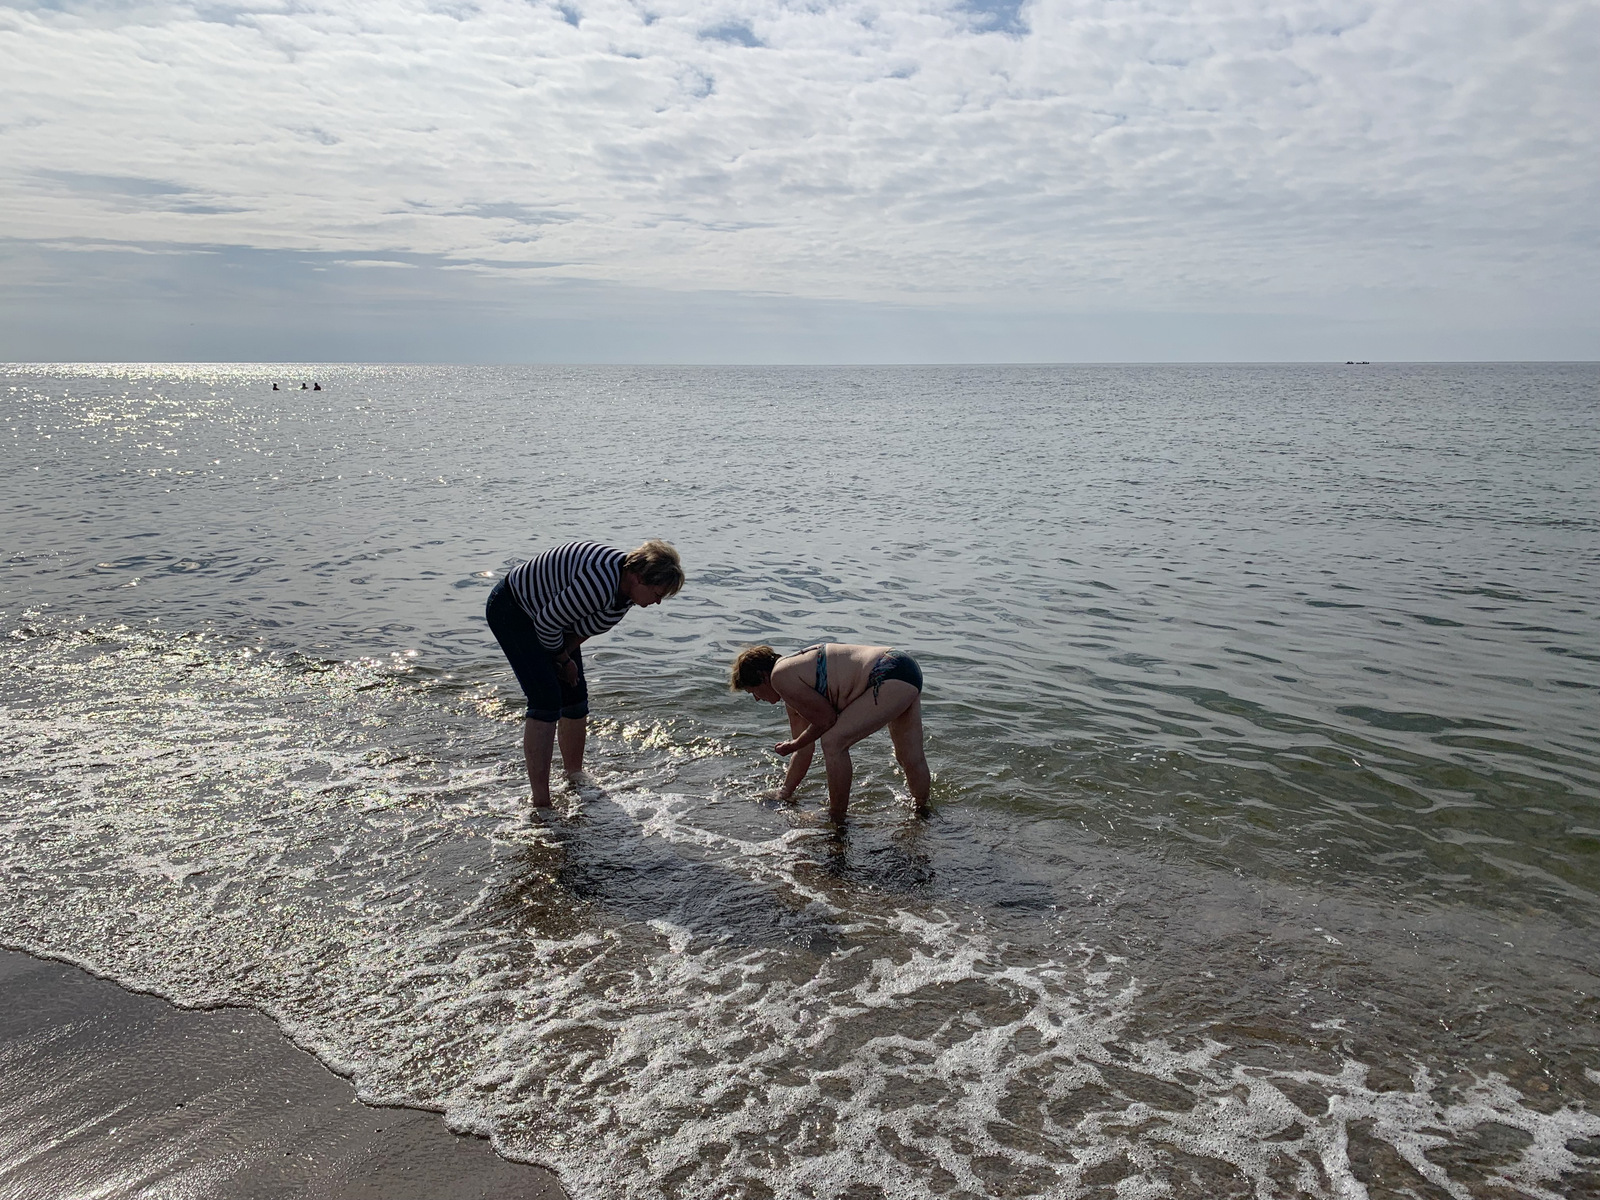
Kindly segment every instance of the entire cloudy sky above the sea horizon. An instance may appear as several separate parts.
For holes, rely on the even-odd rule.
[[[0,0],[0,358],[1600,358],[1600,0]]]

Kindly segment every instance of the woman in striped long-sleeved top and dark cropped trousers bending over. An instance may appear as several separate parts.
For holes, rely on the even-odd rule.
[[[598,542],[568,542],[531,558],[494,584],[485,614],[528,698],[522,752],[533,806],[550,806],[557,741],[568,778],[584,770],[589,683],[579,646],[634,606],[650,608],[683,587],[683,565],[667,542],[624,554]]]

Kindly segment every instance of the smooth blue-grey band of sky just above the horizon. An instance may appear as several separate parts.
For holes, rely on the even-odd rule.
[[[0,360],[1342,362],[1573,358],[1600,349],[1571,314],[1493,306],[1434,320],[1338,299],[1312,314],[1038,312],[662,291],[427,256],[405,266],[222,245],[0,238]]]

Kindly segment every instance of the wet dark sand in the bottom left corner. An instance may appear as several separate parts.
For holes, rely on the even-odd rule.
[[[0,1200],[562,1200],[443,1118],[374,1109],[245,1008],[0,950]]]

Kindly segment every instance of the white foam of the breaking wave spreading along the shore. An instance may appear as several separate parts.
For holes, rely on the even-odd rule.
[[[1555,1197],[1600,1134],[1493,1074],[1376,1090],[1144,1038],[1138,963],[864,891],[782,813],[715,829],[637,786],[630,741],[533,822],[506,725],[378,664],[130,632],[0,653],[6,944],[262,1008],[363,1098],[586,1200],[1366,1197],[1352,1136],[1467,1197],[1427,1155],[1488,1123],[1528,1141],[1474,1187]]]

